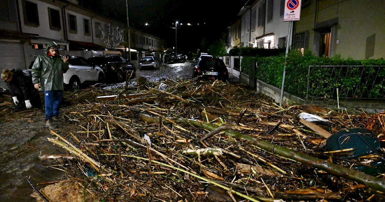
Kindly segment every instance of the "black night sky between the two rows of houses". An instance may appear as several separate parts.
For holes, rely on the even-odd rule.
[[[79,0],[96,13],[126,23],[126,0]],[[175,45],[175,22],[178,25],[178,52],[188,53],[199,48],[203,38],[208,45],[226,32],[245,0],[225,3],[222,0],[129,0],[130,26],[167,40]],[[145,26],[149,23],[149,26]],[[191,23],[192,26],[187,26]],[[199,23],[199,25],[197,25]],[[206,24],[204,24],[206,23]]]

